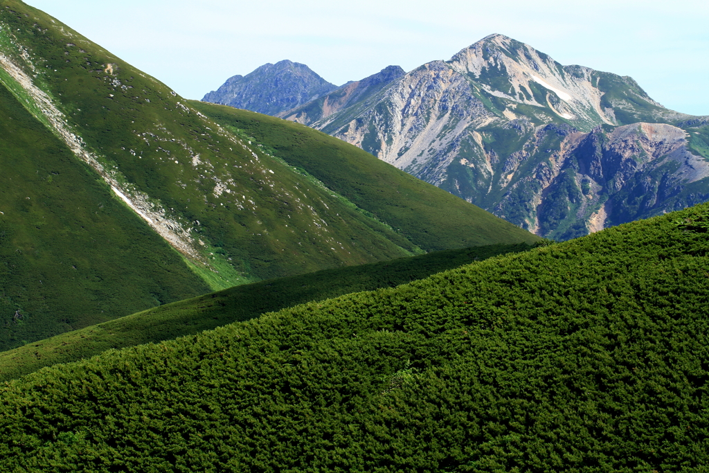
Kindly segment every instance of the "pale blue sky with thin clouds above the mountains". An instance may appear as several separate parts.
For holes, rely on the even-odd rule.
[[[668,108],[709,115],[706,0],[29,0],[182,96],[266,62],[335,84],[447,60],[491,33],[629,75]]]

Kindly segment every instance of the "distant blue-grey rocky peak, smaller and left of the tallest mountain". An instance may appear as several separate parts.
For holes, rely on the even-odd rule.
[[[284,60],[235,75],[203,101],[275,115],[337,89],[308,66]]]

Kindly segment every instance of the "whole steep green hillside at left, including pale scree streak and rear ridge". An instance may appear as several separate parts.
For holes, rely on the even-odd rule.
[[[2,5],[0,349],[262,279],[538,240],[311,128],[186,101]]]

